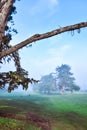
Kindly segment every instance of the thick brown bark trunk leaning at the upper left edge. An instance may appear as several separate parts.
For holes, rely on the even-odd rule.
[[[5,27],[7,25],[8,15],[14,0],[0,0],[0,48],[3,46],[3,38],[5,36]],[[0,51],[2,51],[0,49]]]

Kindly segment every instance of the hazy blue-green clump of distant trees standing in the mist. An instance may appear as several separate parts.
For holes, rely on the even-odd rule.
[[[70,71],[71,67],[67,64],[58,66],[55,73],[42,76],[40,82],[34,85],[34,90],[43,94],[79,91],[80,87]]]

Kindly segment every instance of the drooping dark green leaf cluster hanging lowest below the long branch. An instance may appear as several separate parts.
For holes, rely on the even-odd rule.
[[[0,88],[4,89],[5,86],[8,86],[8,92],[18,88],[20,85],[23,87],[23,89],[27,90],[29,83],[32,82],[37,81],[28,78],[28,72],[23,69],[20,73],[18,73],[18,71],[0,73]]]

